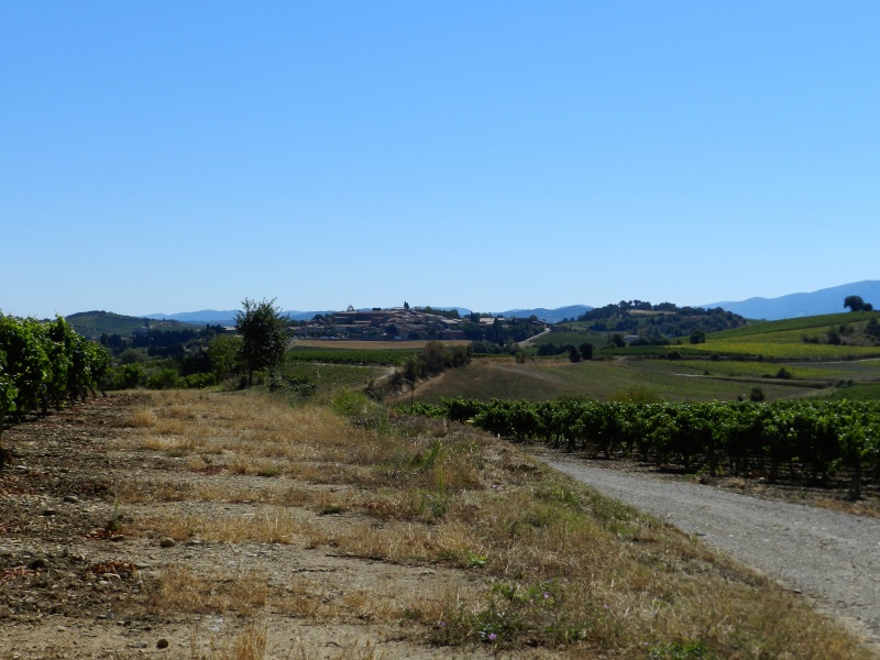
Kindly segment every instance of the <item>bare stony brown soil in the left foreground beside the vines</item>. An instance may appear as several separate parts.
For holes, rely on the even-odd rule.
[[[292,483],[227,474],[252,502],[120,503],[118,487],[132,479],[148,488],[169,475],[180,487],[218,477],[132,442],[138,429],[125,420],[140,397],[97,398],[3,435],[14,454],[0,471],[0,658],[491,654],[431,647],[424,626],[406,618],[407,604],[466,592],[479,581],[466,571],[351,557],[305,538],[163,543],[151,519],[263,515],[263,494]],[[297,515],[328,529],[346,522],[344,514]],[[167,602],[168,580],[191,580],[194,602]]]

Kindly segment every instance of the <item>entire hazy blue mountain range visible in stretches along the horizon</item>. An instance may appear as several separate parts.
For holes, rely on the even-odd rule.
[[[779,298],[749,298],[748,300],[708,302],[698,305],[713,309],[721,307],[734,314],[746,317],[747,319],[765,319],[776,321],[779,319],[791,319],[805,316],[816,316],[821,314],[836,314],[846,311],[844,298],[847,296],[861,296],[866,302],[872,304],[880,309],[880,280],[866,279],[843,284],[832,288],[821,289],[810,294],[790,294]],[[458,309],[461,316],[471,314],[466,307],[439,307],[435,309]],[[576,319],[579,316],[593,309],[588,305],[569,305],[556,309],[538,307],[535,309],[508,309],[506,311],[494,311],[493,316],[528,318],[536,316],[548,323],[557,323],[563,319]],[[211,323],[220,326],[234,326],[238,310],[202,309],[201,311],[183,311],[179,314],[147,314],[143,318],[158,320],[175,320],[183,323]],[[321,311],[296,311],[288,310],[283,314],[298,321],[308,321],[317,315],[333,314],[333,310]]]

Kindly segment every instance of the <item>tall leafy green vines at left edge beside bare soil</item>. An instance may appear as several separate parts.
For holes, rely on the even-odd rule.
[[[6,417],[85,399],[108,366],[107,352],[62,317],[41,322],[0,315],[0,432]]]

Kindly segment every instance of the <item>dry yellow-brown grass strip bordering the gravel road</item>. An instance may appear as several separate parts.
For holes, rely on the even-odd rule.
[[[851,638],[770,581],[465,427],[399,420],[373,432],[324,408],[250,394],[160,393],[148,411],[152,426],[132,424],[141,448],[183,452],[190,471],[222,464],[223,472],[138,492],[123,484],[123,503],[251,505],[246,515],[168,509],[141,520],[144,529],[482,578],[468,590],[399,596],[364,586],[329,593],[297,579],[275,594],[261,575],[197,578],[177,569],[154,594],[153,606],[165,612],[271,606],[320,620],[400,619],[433,644],[505,652],[537,645],[570,657],[688,657],[674,656],[678,649],[691,657],[861,657]],[[218,453],[207,462],[209,452]],[[237,482],[260,474],[265,487]],[[338,490],[316,485],[331,483]],[[344,518],[320,515],[337,512]]]

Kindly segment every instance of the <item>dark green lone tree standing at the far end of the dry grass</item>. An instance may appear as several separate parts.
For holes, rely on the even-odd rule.
[[[248,387],[253,384],[254,372],[277,369],[287,349],[287,318],[275,307],[275,298],[261,302],[245,298],[235,315],[235,329],[242,338],[239,353],[248,370]]]

